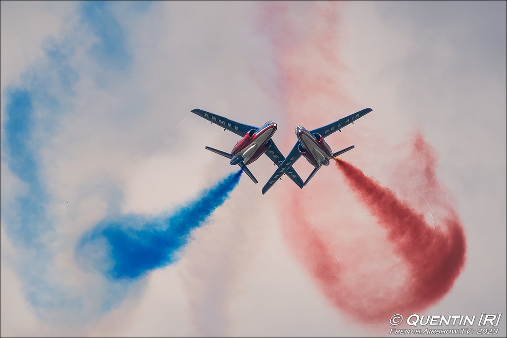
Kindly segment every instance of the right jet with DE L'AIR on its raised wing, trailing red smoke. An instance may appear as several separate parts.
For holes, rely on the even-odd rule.
[[[324,138],[333,134],[337,130],[341,132],[341,129],[343,127],[349,125],[350,123],[353,124],[355,120],[365,116],[370,111],[372,111],[370,108],[360,110],[327,126],[313,129],[311,131],[308,131],[303,126],[297,126],[295,132],[298,141],[292,148],[291,152],[287,155],[285,160],[278,166],[275,173],[264,185],[262,189],[263,195],[273,186],[273,184],[275,184],[279,178],[281,178],[281,176],[288,172],[287,170],[289,170],[289,168],[294,171],[294,169],[292,169],[292,166],[294,165],[294,162],[296,162],[301,157],[301,155],[303,155],[303,157],[312,166],[315,167],[315,169],[313,169],[313,171],[303,183],[303,186],[305,186],[322,166],[329,165],[330,159],[334,159],[337,156],[348,152],[350,149],[353,149],[354,146],[351,145],[339,152],[333,153],[329,144],[324,141]]]

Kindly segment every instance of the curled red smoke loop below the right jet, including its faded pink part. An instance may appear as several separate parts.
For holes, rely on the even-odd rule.
[[[425,179],[420,183],[421,190],[438,192],[440,185],[430,149],[418,135],[412,161],[427,160],[430,165],[421,168]],[[437,218],[434,227],[407,202],[360,169],[344,161],[336,164],[359,202],[375,217],[374,225],[382,227],[385,237],[372,234],[360,240],[352,238],[352,245],[344,244],[341,248],[338,265],[333,250],[340,252],[341,244],[331,248],[329,233],[324,235],[302,220],[307,214],[302,206],[304,198],[294,194],[286,206],[295,216],[285,223],[284,234],[304,267],[336,307],[359,320],[387,323],[395,313],[413,313],[436,303],[450,290],[464,265],[465,237],[455,211],[446,204],[436,205],[447,213]],[[340,222],[350,221],[345,207],[336,211],[345,217],[330,217],[328,221],[346,226]],[[369,231],[361,224],[352,225]],[[348,237],[347,233],[342,234],[341,240],[350,240]],[[375,248],[379,245],[383,249]],[[348,256],[346,251],[350,251]]]

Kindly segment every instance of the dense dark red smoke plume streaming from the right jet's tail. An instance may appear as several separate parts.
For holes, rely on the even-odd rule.
[[[398,311],[421,309],[444,296],[463,267],[466,251],[463,229],[454,210],[449,210],[450,215],[435,229],[422,214],[358,168],[344,161],[336,164],[359,201],[387,231],[387,240],[394,251],[409,267],[406,283],[411,287],[404,294],[407,306]],[[428,178],[433,178],[432,173],[428,169]],[[382,315],[394,313],[393,310]]]

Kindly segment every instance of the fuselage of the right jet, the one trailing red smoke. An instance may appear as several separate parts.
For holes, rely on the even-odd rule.
[[[296,127],[296,136],[300,142],[298,149],[301,155],[315,168],[329,165],[333,152],[324,138],[317,133],[311,134],[303,126]]]

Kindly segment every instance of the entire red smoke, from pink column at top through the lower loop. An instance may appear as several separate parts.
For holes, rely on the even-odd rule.
[[[287,128],[313,129],[368,106],[352,107],[339,83],[344,67],[335,53],[341,3],[265,4],[262,27],[276,53]],[[368,117],[363,119],[364,126],[353,131],[353,143],[347,131],[330,137],[332,147],[368,149],[371,139],[358,137],[368,127]],[[285,151],[296,141],[292,130],[286,135]],[[328,299],[358,320],[387,323],[393,314],[436,303],[463,267],[464,234],[434,172],[433,154],[418,135],[403,170],[395,172],[396,192],[406,202],[346,163],[339,166],[345,180],[323,168],[303,190],[282,180],[271,192],[283,194],[282,233],[289,248]],[[417,191],[399,186],[407,173]],[[418,213],[428,208],[435,226]]]

